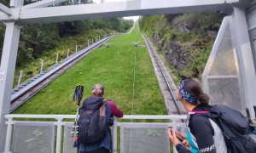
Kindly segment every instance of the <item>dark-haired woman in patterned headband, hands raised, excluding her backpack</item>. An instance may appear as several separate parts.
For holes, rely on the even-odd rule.
[[[185,141],[180,142],[173,129],[168,129],[168,135],[172,144],[176,146],[179,153],[187,152],[207,152],[226,153],[227,147],[224,136],[218,125],[212,119],[205,116],[195,116],[195,114],[208,113],[205,106],[208,105],[209,97],[204,94],[201,85],[193,79],[184,79],[178,85],[177,99],[181,101],[183,107],[188,111],[187,140],[190,147],[186,148]]]

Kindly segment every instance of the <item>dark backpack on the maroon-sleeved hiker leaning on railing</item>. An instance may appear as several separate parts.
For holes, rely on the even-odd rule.
[[[79,109],[79,143],[99,143],[106,133],[106,102],[102,97],[85,99]]]

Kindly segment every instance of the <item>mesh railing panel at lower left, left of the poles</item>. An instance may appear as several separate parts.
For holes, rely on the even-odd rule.
[[[54,152],[55,126],[53,122],[15,122],[13,153]]]

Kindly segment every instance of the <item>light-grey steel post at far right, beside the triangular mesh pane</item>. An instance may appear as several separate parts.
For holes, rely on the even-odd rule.
[[[251,115],[254,116],[253,105],[256,105],[256,76],[253,65],[253,54],[247,28],[247,18],[245,11],[241,8],[234,8],[233,22],[237,42],[237,60],[240,75],[240,89],[243,107],[248,107]],[[242,108],[246,114],[245,108]]]

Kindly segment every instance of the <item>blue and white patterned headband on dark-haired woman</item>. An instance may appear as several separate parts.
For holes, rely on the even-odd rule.
[[[197,102],[197,100],[195,99],[195,97],[191,96],[185,88],[186,80],[188,80],[188,79],[185,79],[179,83],[179,85],[178,85],[179,94],[183,99],[189,100],[190,103],[195,104]]]

